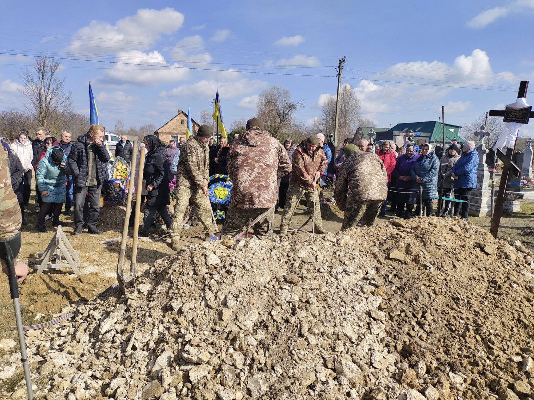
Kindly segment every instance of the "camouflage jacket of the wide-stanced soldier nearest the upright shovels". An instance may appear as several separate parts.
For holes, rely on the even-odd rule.
[[[176,186],[202,189],[206,187],[208,178],[208,143],[203,145],[197,138],[193,137],[180,147],[176,169]]]

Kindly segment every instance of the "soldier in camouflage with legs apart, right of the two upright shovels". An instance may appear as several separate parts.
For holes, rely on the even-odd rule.
[[[209,240],[215,227],[211,222],[211,206],[208,199],[209,178],[209,149],[208,141],[211,137],[211,128],[208,125],[200,126],[196,136],[187,140],[180,147],[178,168],[176,171],[176,187],[178,195],[174,215],[170,225],[169,236],[172,250],[180,250],[180,234],[184,225],[184,214],[191,199],[197,208],[200,222],[205,229],[205,239]]]

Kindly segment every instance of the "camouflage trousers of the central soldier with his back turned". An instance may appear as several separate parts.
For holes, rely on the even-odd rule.
[[[224,219],[223,229],[221,229],[221,239],[224,240],[225,237],[231,238],[235,236],[235,234],[247,225],[250,219],[254,221],[266,211],[269,211],[267,215],[252,227],[254,235],[257,237],[266,237],[272,234],[274,228],[274,207],[270,209],[240,210],[230,206]]]

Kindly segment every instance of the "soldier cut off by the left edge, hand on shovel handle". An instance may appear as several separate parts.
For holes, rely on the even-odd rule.
[[[4,151],[0,151],[0,241],[5,241],[17,236],[22,223],[19,202],[11,188],[9,168],[7,167],[7,156]],[[13,254],[15,275],[18,282],[22,281],[28,274],[25,263],[20,262],[18,254]],[[7,268],[4,260],[0,260],[2,272],[7,275]]]

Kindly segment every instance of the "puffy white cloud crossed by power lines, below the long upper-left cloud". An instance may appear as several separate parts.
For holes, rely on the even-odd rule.
[[[189,71],[182,65],[169,65],[157,51],[148,54],[138,50],[123,51],[117,53],[116,59],[120,63],[105,72],[105,77],[112,81],[153,86],[189,77]]]

